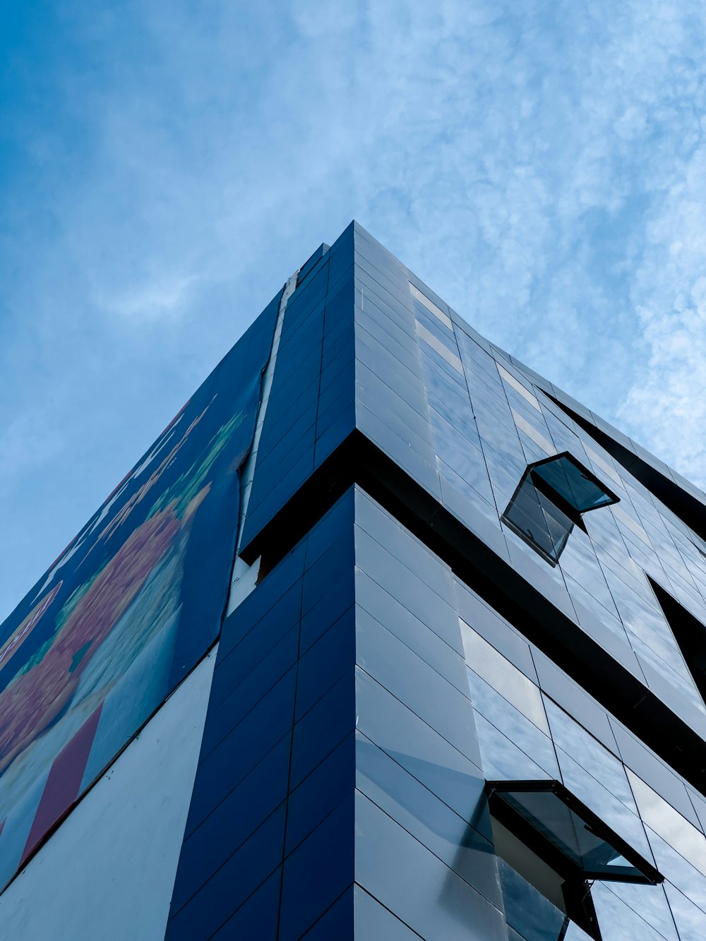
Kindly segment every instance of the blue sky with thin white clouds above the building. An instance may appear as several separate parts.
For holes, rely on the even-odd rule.
[[[0,46],[0,619],[353,217],[706,485],[700,0],[26,0]]]

